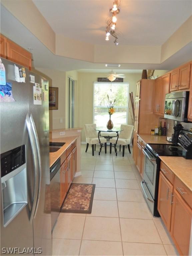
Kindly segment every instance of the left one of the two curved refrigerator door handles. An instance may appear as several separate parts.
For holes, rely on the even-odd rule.
[[[31,121],[28,114],[26,116],[26,125],[27,125],[30,143],[31,143],[33,163],[34,163],[34,190],[33,190],[33,198],[32,198],[33,202],[32,202],[31,214],[29,219],[30,223],[32,223],[36,204],[37,204],[37,196],[38,196],[38,180],[37,180],[38,178],[37,177],[38,177],[39,171],[38,171],[38,161],[37,161],[38,154],[37,154],[37,148],[35,143],[35,136],[33,133]]]

